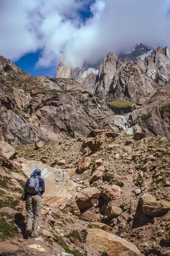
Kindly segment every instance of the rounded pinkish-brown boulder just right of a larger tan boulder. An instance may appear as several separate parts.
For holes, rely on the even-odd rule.
[[[116,186],[116,185],[106,186],[101,191],[101,197],[108,202],[119,198],[120,195],[121,195],[121,189],[119,186]]]

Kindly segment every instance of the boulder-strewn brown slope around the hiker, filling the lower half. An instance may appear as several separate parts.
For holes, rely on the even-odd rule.
[[[38,150],[20,146],[17,155],[3,144],[0,253],[169,256],[169,140],[96,130],[87,138],[39,143]],[[46,183],[40,237],[23,240],[20,193],[37,167]]]

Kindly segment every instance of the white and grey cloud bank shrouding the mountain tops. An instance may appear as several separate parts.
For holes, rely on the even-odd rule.
[[[91,15],[83,20],[81,12]],[[0,55],[16,61],[41,50],[37,67],[50,67],[65,52],[72,66],[101,62],[142,42],[170,47],[169,0],[0,1]],[[89,11],[89,10],[88,10]]]

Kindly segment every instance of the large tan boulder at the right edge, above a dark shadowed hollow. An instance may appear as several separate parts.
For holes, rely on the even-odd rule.
[[[156,200],[155,197],[147,193],[142,195],[139,202],[142,207],[142,212],[149,216],[157,217],[165,215],[170,210],[170,202]]]

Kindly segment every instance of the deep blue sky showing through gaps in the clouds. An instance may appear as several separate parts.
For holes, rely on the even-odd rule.
[[[95,0],[91,0],[91,3],[94,3]],[[88,4],[83,9],[77,10],[77,14],[79,15],[80,19],[82,20],[82,23],[85,23],[89,17],[92,17],[90,5]],[[50,67],[36,67],[36,63],[41,55],[41,50],[38,50],[37,52],[32,52],[24,55],[21,57],[18,61],[15,61],[14,63],[20,67],[20,69],[25,70],[26,72],[30,73],[31,76],[49,76],[49,77],[55,77],[56,76],[56,68],[59,64],[59,61],[57,61],[57,64],[51,65]]]

